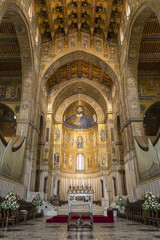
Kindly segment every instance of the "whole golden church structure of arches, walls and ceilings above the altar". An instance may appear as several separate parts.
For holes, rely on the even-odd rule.
[[[160,195],[160,1],[0,1],[0,195]]]

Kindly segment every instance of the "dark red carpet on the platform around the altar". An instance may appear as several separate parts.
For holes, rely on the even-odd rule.
[[[78,216],[75,216],[78,219]],[[86,217],[82,217],[82,219],[86,219]],[[57,215],[52,218],[46,220],[46,223],[67,223],[68,215]],[[113,211],[107,212],[107,217],[103,215],[93,215],[94,223],[114,223]]]

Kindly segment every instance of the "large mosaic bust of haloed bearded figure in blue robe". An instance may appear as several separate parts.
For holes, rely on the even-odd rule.
[[[67,127],[73,129],[87,129],[95,125],[95,122],[88,115],[84,114],[83,106],[78,105],[76,112],[75,115],[65,120],[64,124]]]

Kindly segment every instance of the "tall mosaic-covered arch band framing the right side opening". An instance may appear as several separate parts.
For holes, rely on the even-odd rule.
[[[130,30],[128,28],[129,41],[126,50],[128,53],[126,55],[126,76],[123,82],[123,88],[125,89],[126,100],[128,102],[128,118],[141,119],[137,87],[138,55],[144,25],[153,12],[160,22],[160,13],[157,10],[158,8],[156,9],[156,5],[153,4],[153,2],[146,1],[134,15],[129,25]]]

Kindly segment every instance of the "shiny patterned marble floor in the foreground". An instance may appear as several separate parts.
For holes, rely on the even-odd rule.
[[[157,240],[160,239],[160,229],[140,223],[115,219],[114,224],[95,223],[93,231],[86,229],[77,233],[74,229],[67,231],[65,223],[46,223],[46,218],[39,218],[19,225],[8,231],[0,228],[0,239],[9,240]]]

